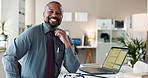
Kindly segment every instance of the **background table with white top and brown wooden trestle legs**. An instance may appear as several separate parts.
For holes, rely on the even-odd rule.
[[[85,55],[84,64],[86,64],[88,58],[90,60],[90,63],[94,63],[93,54],[91,52],[91,49],[96,48],[96,46],[76,46],[76,47],[78,49],[86,49],[86,55]]]

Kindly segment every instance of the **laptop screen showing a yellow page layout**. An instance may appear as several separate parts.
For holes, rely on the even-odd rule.
[[[124,62],[127,52],[128,48],[112,47],[102,68],[118,72]]]

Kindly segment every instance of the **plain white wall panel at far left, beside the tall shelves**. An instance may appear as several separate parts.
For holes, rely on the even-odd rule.
[[[19,0],[1,0],[1,20],[6,21],[5,33],[9,43],[18,36],[18,3]]]

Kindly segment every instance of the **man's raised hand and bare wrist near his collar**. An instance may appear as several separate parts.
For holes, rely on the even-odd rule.
[[[56,30],[55,36],[58,36],[60,38],[60,40],[65,44],[66,49],[70,48],[70,43],[68,41],[67,34],[64,30],[62,30],[62,29]]]

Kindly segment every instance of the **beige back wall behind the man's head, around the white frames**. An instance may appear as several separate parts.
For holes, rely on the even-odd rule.
[[[51,0],[36,0],[35,24],[43,22],[44,6]],[[98,18],[124,19],[126,16],[146,12],[146,0],[57,0],[65,12],[72,12],[72,22],[63,22],[61,28],[70,31],[73,38],[81,38],[86,32],[95,31]],[[88,22],[75,22],[75,12],[87,12]]]

